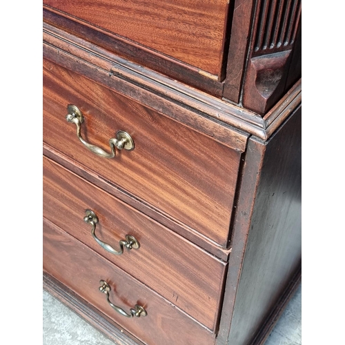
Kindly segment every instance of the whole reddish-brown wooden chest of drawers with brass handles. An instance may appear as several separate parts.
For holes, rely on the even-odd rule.
[[[124,344],[262,344],[300,279],[299,1],[43,1],[43,282]]]

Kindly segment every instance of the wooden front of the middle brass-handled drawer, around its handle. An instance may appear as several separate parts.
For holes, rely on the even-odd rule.
[[[140,248],[116,255],[92,237],[86,209],[97,215],[95,236],[120,251],[132,235]],[[150,286],[199,322],[215,329],[226,264],[168,228],[43,158],[43,217]],[[207,301],[207,302],[206,302]]]

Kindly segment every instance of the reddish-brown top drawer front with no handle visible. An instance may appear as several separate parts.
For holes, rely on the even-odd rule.
[[[162,55],[167,60],[220,75],[228,2],[97,0],[90,6],[86,1],[44,0],[43,4],[82,23],[84,30],[80,32],[86,27],[106,34],[108,40],[115,37],[119,44],[113,45],[114,50],[124,41],[129,45],[128,54],[139,47],[144,53],[149,51],[153,56]],[[93,43],[106,44],[103,35],[94,35]]]

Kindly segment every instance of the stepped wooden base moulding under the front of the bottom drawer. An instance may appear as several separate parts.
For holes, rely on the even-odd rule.
[[[96,311],[88,302],[81,299],[48,273],[43,273],[43,288],[116,344],[121,342],[124,345],[144,345],[143,342],[140,342],[127,331],[119,331],[121,326],[115,326],[115,322],[110,322],[106,315]]]

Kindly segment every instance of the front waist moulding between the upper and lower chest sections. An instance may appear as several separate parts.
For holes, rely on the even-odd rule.
[[[262,117],[255,115],[254,112],[221,101],[221,99],[190,88],[148,68],[121,59],[103,48],[93,46],[88,41],[63,32],[48,23],[43,23],[43,43],[50,44],[59,52],[69,52],[83,61],[92,63],[96,68],[101,68],[109,74],[140,85],[146,90],[151,90],[166,100],[177,101],[185,108],[204,112],[219,121],[226,120],[226,117],[236,117],[239,121],[263,128]]]

